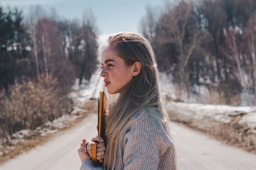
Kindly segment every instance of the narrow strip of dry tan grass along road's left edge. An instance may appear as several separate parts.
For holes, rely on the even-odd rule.
[[[20,143],[19,145],[13,146],[11,152],[0,157],[0,165],[6,162],[7,160],[17,157],[23,152],[28,152],[32,148],[35,148],[35,146],[37,145],[42,145],[46,143],[47,141],[51,140],[54,136],[57,136],[59,132],[68,131],[68,129],[72,128],[76,124],[79,124],[79,122],[86,118],[88,116],[88,113],[95,113],[97,109],[96,104],[97,102],[95,100],[86,102],[83,107],[83,109],[86,111],[80,113],[81,117],[77,118],[73,122],[70,122],[68,127],[60,129],[60,131],[56,132],[55,134],[48,134],[47,136],[36,136],[33,139],[26,139],[24,143]]]

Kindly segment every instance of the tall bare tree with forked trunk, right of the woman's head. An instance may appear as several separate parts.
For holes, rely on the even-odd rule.
[[[195,52],[199,41],[193,18],[193,4],[181,1],[173,10],[165,13],[159,20],[160,42],[169,43],[177,53],[177,98],[182,96],[182,87],[186,85],[189,98],[189,72],[186,71],[189,59]],[[160,38],[159,37],[159,38]]]

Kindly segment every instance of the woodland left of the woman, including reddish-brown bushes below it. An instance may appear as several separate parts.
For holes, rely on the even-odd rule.
[[[41,6],[26,18],[0,6],[0,137],[72,111],[72,85],[97,69],[96,30],[91,10],[62,20]]]

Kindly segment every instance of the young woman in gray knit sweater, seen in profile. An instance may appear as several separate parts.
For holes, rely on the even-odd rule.
[[[83,139],[78,150],[80,170],[176,169],[156,59],[148,40],[128,32],[109,36],[102,52],[100,76],[109,94],[119,96],[109,106],[106,147],[99,136],[92,139],[100,143],[97,159],[104,158],[104,165],[92,162],[84,148],[87,141]]]

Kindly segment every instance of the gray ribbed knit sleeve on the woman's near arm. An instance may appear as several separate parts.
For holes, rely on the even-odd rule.
[[[132,121],[129,131],[124,136],[124,169],[158,169],[159,124],[159,120],[150,114],[142,114]]]

